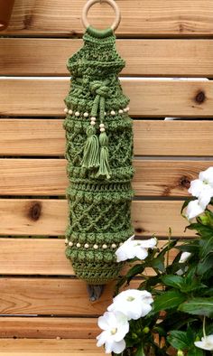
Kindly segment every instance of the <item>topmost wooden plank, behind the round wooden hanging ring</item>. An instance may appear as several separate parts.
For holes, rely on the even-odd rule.
[[[81,34],[84,0],[25,0],[15,2],[11,25],[5,34]],[[119,36],[165,37],[213,34],[211,0],[119,0],[122,22]],[[89,12],[90,23],[107,27],[114,14],[107,5],[96,5]],[[134,21],[133,21],[134,19]]]

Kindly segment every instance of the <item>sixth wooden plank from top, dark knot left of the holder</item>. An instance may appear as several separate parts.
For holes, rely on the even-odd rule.
[[[171,226],[174,237],[193,236],[190,230],[184,232],[187,221],[181,217],[181,205],[182,201],[134,201],[136,234],[167,237]],[[68,204],[55,199],[1,199],[0,214],[0,235],[59,236],[67,226]]]

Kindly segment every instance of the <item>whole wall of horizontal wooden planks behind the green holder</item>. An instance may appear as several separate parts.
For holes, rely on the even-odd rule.
[[[102,354],[87,339],[97,334],[96,317],[110,303],[113,285],[89,303],[85,284],[64,257],[63,239],[66,60],[82,44],[85,1],[16,0],[10,27],[1,33],[1,354],[15,347],[22,354],[23,344],[28,351],[69,351],[62,341],[44,346],[44,339],[56,337],[83,339],[81,351],[78,342],[69,343],[75,355]],[[117,49],[126,60],[122,84],[134,117],[135,232],[156,233],[161,245],[169,227],[173,237],[190,239],[181,204],[190,181],[213,164],[212,0],[117,4]],[[89,13],[98,28],[112,18],[106,4]],[[12,337],[29,343],[14,346],[5,339]],[[35,338],[41,339],[37,348]]]

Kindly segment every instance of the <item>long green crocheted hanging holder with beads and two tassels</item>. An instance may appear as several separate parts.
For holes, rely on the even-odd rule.
[[[69,226],[66,256],[79,278],[106,284],[122,267],[116,248],[133,235],[133,132],[129,99],[118,73],[125,61],[111,29],[88,27],[84,45],[68,60],[65,98]]]

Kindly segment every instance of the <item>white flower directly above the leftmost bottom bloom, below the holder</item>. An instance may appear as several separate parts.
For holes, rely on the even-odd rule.
[[[150,304],[153,303],[151,293],[146,290],[128,289],[121,292],[113,299],[113,304],[109,305],[109,312],[122,312],[128,320],[137,320],[152,310]]]

